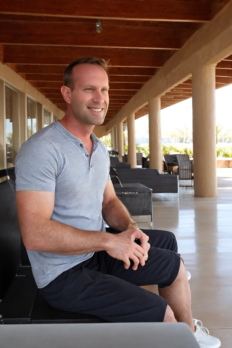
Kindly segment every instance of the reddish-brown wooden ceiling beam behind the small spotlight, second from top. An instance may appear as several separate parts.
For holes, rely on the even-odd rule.
[[[114,47],[180,49],[196,31],[187,26],[172,30],[168,27],[129,25],[130,22],[108,21],[104,30],[96,32],[95,21],[86,23],[30,22],[1,20],[0,43],[17,45],[49,45],[71,47]],[[133,22],[133,24],[135,24]],[[56,33],[54,35],[54,33]]]

